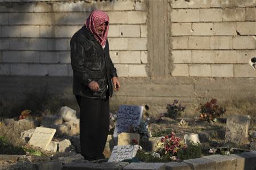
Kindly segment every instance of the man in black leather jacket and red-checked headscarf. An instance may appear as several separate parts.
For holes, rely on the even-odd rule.
[[[71,39],[73,94],[80,107],[81,155],[105,158],[109,131],[109,97],[118,91],[117,71],[109,56],[109,16],[95,10]],[[112,84],[113,83],[113,84]]]

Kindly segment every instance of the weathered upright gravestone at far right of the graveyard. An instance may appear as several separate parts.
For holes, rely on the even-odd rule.
[[[247,142],[249,126],[249,115],[229,115],[226,120],[225,143],[244,145]]]

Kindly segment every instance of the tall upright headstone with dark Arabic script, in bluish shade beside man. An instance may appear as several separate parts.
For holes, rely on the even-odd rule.
[[[114,138],[119,133],[128,132],[130,126],[141,124],[143,107],[138,105],[121,105],[118,109],[117,124],[115,125]]]

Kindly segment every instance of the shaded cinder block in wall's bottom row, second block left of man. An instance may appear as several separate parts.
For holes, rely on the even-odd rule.
[[[48,65],[30,64],[28,66],[28,75],[46,76],[48,75]]]

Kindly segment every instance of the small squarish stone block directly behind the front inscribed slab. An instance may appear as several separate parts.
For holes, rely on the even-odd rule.
[[[120,133],[118,135],[118,144],[117,145],[132,145],[133,140],[136,141],[136,145],[139,144],[139,134],[138,133]]]

